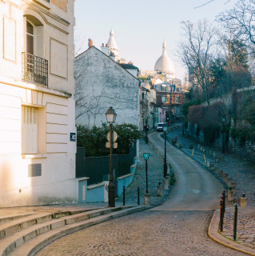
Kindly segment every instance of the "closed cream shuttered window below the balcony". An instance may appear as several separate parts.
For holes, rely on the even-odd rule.
[[[38,109],[22,106],[22,154],[38,154]]]

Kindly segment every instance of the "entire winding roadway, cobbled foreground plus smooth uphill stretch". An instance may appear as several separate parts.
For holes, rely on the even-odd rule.
[[[150,134],[149,138],[162,147],[158,135]],[[168,146],[167,154],[177,182],[163,206],[70,234],[36,255],[246,255],[221,246],[207,235],[223,190],[221,183],[172,146]]]

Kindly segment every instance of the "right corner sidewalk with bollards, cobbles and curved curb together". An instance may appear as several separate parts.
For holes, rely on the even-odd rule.
[[[209,237],[224,246],[255,255],[255,207],[238,207],[237,241],[233,241],[234,208],[226,208],[223,232],[219,231],[220,212],[215,211],[209,226]]]

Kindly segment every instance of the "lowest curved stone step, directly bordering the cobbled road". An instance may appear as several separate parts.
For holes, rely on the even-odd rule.
[[[22,246],[18,247],[16,250],[12,250],[12,254],[2,254],[2,256],[32,256],[41,250],[42,247],[48,245],[50,242],[53,242],[55,239],[61,238],[66,234],[72,234],[78,230],[83,230],[89,226],[94,226],[96,224],[110,221],[114,218],[120,218],[122,216],[133,214],[142,210],[151,208],[150,206],[135,206],[129,207],[124,210],[120,210],[123,207],[110,208],[102,210],[102,215],[98,217],[92,217],[81,222],[74,222],[70,225],[61,226],[55,230],[49,230],[48,232],[38,235],[37,237],[31,239],[29,242],[26,242]],[[113,210],[113,212],[111,212]],[[103,214],[105,212],[105,214]],[[92,214],[91,216],[95,216]]]

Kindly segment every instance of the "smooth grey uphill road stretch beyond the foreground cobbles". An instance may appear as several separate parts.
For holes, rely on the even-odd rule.
[[[164,150],[164,139],[159,133],[149,134],[149,140]],[[197,162],[176,147],[167,144],[167,160],[173,166],[177,182],[169,200],[153,210],[216,210],[219,208],[221,182]]]

